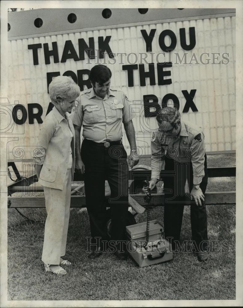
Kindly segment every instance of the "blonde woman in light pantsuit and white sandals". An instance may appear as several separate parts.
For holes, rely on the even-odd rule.
[[[42,157],[36,164],[38,183],[44,186],[46,224],[42,261],[46,272],[66,274],[60,265],[66,254],[67,231],[70,215],[71,181],[75,165],[75,131],[69,111],[80,94],[78,85],[68,76],[58,76],[49,85],[52,111],[42,123],[39,146]]]

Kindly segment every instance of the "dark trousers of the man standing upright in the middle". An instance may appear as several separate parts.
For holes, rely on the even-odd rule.
[[[105,202],[105,180],[108,181],[111,196],[111,240],[125,241],[125,226],[128,213],[127,153],[121,142],[111,142],[109,148],[84,139],[81,157],[85,165],[86,206],[90,216],[91,243],[103,247],[101,241],[108,240]],[[99,238],[101,237],[101,240]],[[93,248],[96,245],[93,246]],[[92,247],[91,247],[92,248]]]

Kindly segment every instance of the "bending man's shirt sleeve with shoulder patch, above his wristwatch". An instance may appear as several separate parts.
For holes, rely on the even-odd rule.
[[[204,136],[202,133],[193,136],[191,144],[191,155],[192,155],[192,167],[193,167],[193,184],[199,185],[202,178],[205,176],[204,172]]]

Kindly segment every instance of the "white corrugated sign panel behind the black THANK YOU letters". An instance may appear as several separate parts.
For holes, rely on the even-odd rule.
[[[195,27],[196,45],[192,50],[185,51],[180,45],[179,29],[185,28],[186,42],[189,43],[189,27]],[[149,34],[151,29],[156,29],[152,52],[146,52],[146,43],[141,30],[146,30]],[[159,45],[159,36],[163,30],[167,29],[174,32],[177,44],[171,53],[163,55]],[[52,50],[52,43],[57,42],[59,61],[61,61],[67,40],[71,40],[78,54],[78,39],[83,38],[89,44],[89,38],[93,37],[95,49],[98,49],[98,37],[100,36],[104,38],[111,36],[109,45],[115,54],[114,59],[110,59],[107,54],[104,59],[88,59],[85,53],[85,60],[82,61],[67,59],[66,63],[54,63],[51,56],[50,64],[45,64],[43,43],[48,43],[49,50]],[[38,65],[33,64],[32,50],[28,50],[30,44],[42,44],[42,48],[38,49]],[[170,45],[168,36],[165,37],[165,44]],[[123,63],[120,61],[121,54],[117,55],[117,53],[126,53],[122,56]],[[187,63],[179,63],[185,53],[187,53]],[[200,58],[203,53],[209,53],[209,56],[204,54]],[[213,53],[219,53],[219,55],[213,55]],[[225,59],[222,58],[222,55]],[[46,74],[60,72],[62,75],[66,71],[73,71],[77,76],[78,70],[90,70],[98,63],[110,67],[112,71],[111,87],[123,90],[129,100],[133,102],[131,111],[136,113],[133,123],[137,145],[141,147],[140,154],[150,154],[151,135],[157,127],[154,117],[144,117],[143,95],[156,95],[161,106],[161,99],[168,93],[173,93],[179,99],[182,118],[202,127],[205,133],[206,151],[235,150],[235,17],[165,22],[11,40],[8,42],[8,56],[10,104],[22,104],[27,111],[25,124],[14,125],[12,134],[16,134],[19,140],[9,143],[10,159],[14,158],[11,153],[14,146],[35,146],[38,144],[38,132],[41,124],[38,124],[36,120],[34,120],[34,124],[29,124],[31,110],[33,113],[38,112],[38,109],[33,109],[34,105],[30,104],[37,103],[42,106],[41,118],[44,120],[50,102]],[[216,57],[215,64],[212,64],[213,57]],[[150,85],[149,78],[146,78],[146,85],[141,86],[139,70],[135,69],[133,71],[134,85],[129,87],[128,73],[122,70],[122,65],[144,64],[146,72],[149,70],[149,65],[143,60],[144,58],[147,63],[154,63],[156,84]],[[210,59],[210,63],[203,64],[202,62],[206,63],[207,59]],[[216,64],[219,61],[221,63]],[[165,71],[171,72],[170,76],[165,77],[165,79],[172,79],[171,84],[158,85],[158,62],[172,62],[172,67],[165,69]],[[228,63],[223,64],[222,62]],[[88,76],[84,75],[83,78],[87,79]],[[190,93],[193,89],[196,89],[193,102],[198,111],[193,112],[189,108],[188,112],[182,113],[186,103],[182,90]],[[28,104],[29,108],[32,108],[30,108],[31,110],[28,110]],[[21,119],[21,117],[22,113],[20,112],[19,118]],[[124,144],[128,145],[125,132],[123,135]],[[29,153],[31,151],[32,148]],[[15,153],[15,155],[17,154]]]

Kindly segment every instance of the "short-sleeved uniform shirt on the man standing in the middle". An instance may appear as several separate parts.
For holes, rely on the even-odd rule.
[[[104,99],[98,97],[93,88],[83,91],[71,113],[73,124],[83,125],[83,137],[99,143],[121,140],[121,123],[132,118],[127,97],[114,89],[109,89]]]

